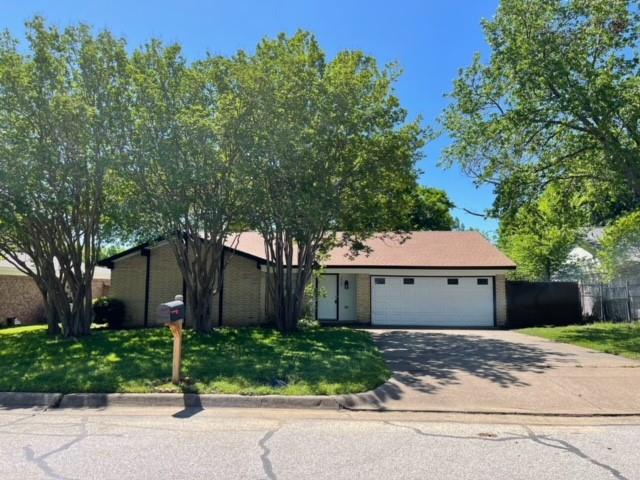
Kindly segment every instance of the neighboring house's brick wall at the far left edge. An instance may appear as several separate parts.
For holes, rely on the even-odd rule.
[[[36,283],[23,275],[0,276],[0,325],[16,318],[22,325],[44,321],[44,303]]]

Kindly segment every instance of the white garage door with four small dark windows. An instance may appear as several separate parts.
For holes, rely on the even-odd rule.
[[[371,323],[492,327],[492,277],[371,277]]]

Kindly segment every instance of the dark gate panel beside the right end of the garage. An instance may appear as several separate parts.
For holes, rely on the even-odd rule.
[[[507,282],[509,328],[582,323],[575,282]]]

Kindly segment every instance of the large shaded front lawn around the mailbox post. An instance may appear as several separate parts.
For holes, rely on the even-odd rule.
[[[177,387],[168,329],[98,329],[79,341],[47,337],[40,326],[3,329],[0,391],[331,395],[370,390],[390,375],[371,336],[346,328],[187,330],[183,351],[189,380]]]

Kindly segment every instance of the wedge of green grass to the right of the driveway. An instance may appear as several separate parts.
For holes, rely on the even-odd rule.
[[[592,323],[568,327],[538,327],[521,333],[572,343],[605,353],[640,359],[640,323]]]

